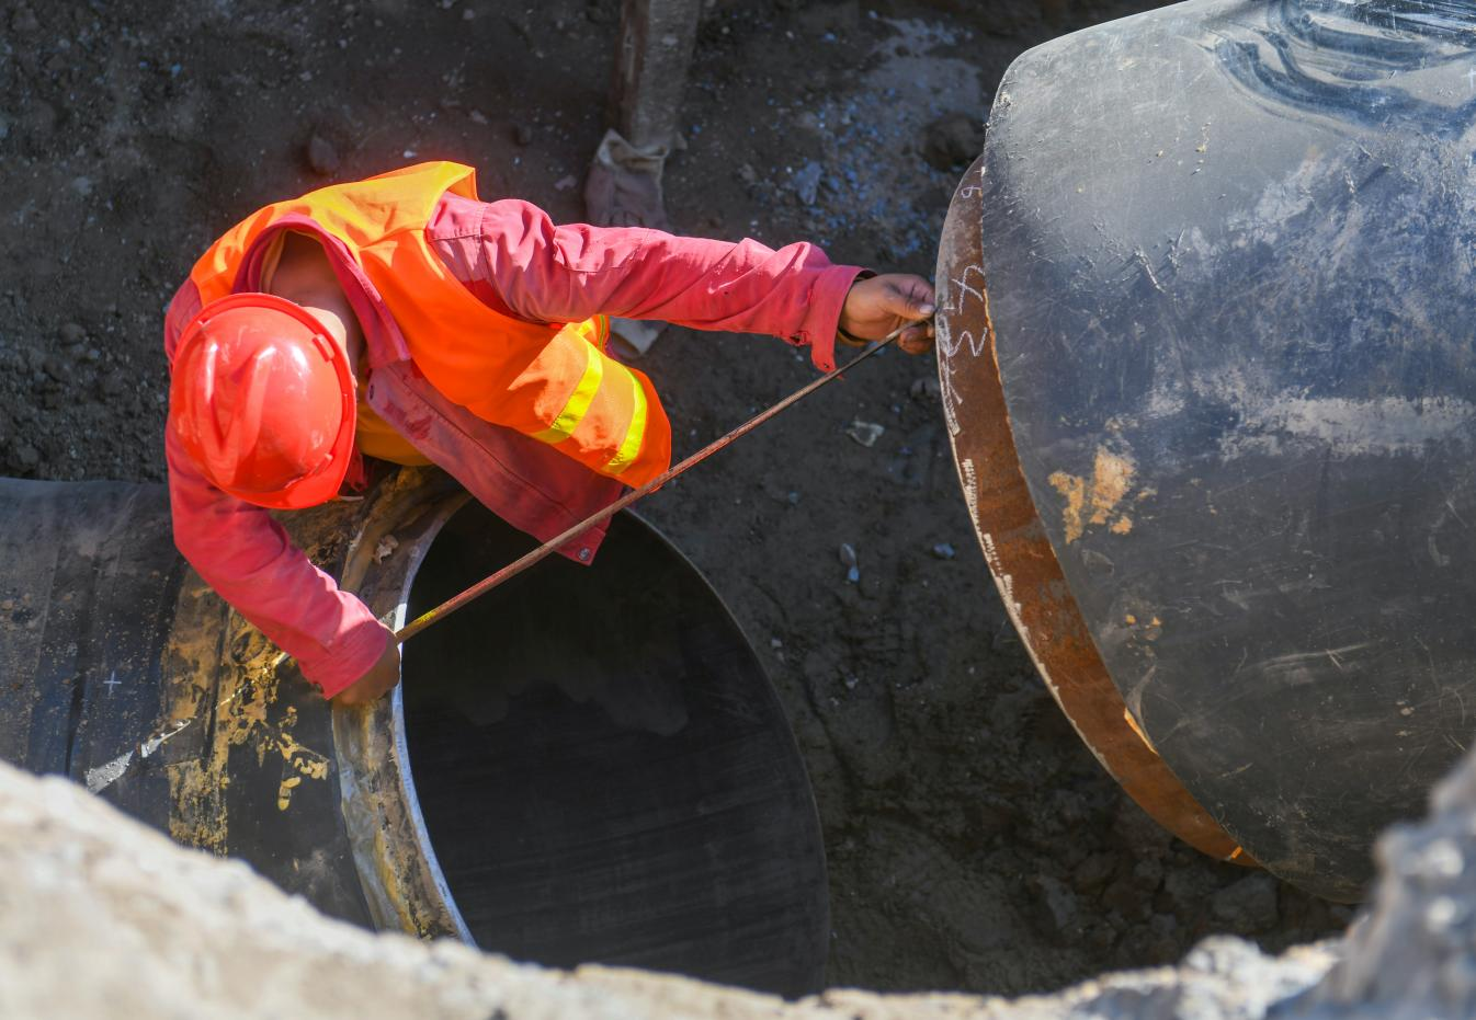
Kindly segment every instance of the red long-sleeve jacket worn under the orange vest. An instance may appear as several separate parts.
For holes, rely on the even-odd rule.
[[[614,498],[618,483],[450,405],[416,371],[388,310],[342,245],[311,221],[288,220],[280,228],[317,233],[323,242],[365,333],[373,368],[369,402],[474,495],[540,539]],[[238,290],[261,289],[270,239],[263,236],[248,252]],[[450,193],[441,198],[427,240],[477,298],[508,315],[564,323],[604,312],[700,330],[769,333],[809,345],[822,370],[832,367],[840,310],[861,271],[831,265],[806,243],[773,251],[754,240],[555,226],[527,202],[475,202]],[[199,305],[192,283],[174,295],[165,315],[171,361]],[[266,510],[210,485],[173,435],[165,447],[174,539],[190,565],[295,657],[325,696],[362,677],[387,640],[369,609],[314,567]],[[567,551],[587,560],[601,535]]]

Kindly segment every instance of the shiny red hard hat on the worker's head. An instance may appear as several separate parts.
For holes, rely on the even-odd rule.
[[[168,427],[211,485],[273,510],[337,495],[354,379],[304,308],[270,293],[213,301],[184,327],[171,371]]]

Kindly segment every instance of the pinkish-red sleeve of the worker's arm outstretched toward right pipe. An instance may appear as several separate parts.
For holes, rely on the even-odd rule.
[[[835,326],[862,270],[813,245],[677,237],[639,227],[555,226],[517,199],[483,203],[468,268],[508,311],[531,321],[604,312],[700,330],[768,333],[834,367]],[[478,287],[474,287],[474,292]]]

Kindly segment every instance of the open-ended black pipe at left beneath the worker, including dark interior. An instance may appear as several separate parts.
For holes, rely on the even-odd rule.
[[[527,544],[438,472],[282,520],[391,625]],[[162,486],[0,479],[0,758],[359,924],[821,986],[799,750],[722,600],[639,519],[406,646],[357,710],[183,563]]]

